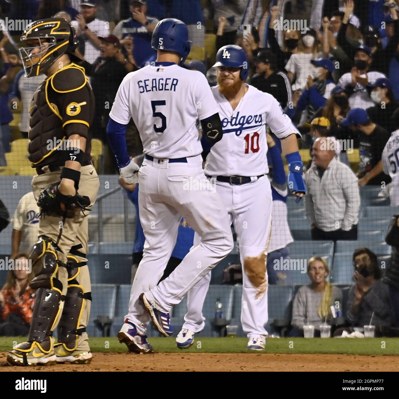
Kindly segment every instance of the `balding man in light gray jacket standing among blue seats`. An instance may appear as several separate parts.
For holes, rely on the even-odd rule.
[[[335,156],[334,137],[319,137],[313,143],[313,162],[304,175],[308,188],[306,218],[312,240],[357,240],[360,196],[358,179]]]

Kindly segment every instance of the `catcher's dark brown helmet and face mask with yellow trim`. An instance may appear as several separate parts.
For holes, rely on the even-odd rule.
[[[57,58],[73,52],[77,46],[74,36],[75,30],[63,18],[45,18],[29,24],[20,40],[38,40],[38,43],[27,44],[19,49],[26,76],[40,75]],[[32,50],[36,48],[40,48],[40,52],[32,54]]]

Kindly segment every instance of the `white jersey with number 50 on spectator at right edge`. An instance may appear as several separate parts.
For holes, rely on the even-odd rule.
[[[389,183],[391,206],[399,205],[399,129],[391,133],[391,137],[382,151],[382,169],[392,179]]]

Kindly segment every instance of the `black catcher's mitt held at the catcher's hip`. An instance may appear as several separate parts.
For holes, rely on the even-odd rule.
[[[80,210],[90,210],[87,208],[90,205],[87,195],[79,195],[77,192],[75,195],[63,195],[58,191],[59,183],[50,185],[40,193],[38,206],[41,213],[73,218]]]

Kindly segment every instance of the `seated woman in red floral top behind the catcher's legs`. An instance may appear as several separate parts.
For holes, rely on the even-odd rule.
[[[34,278],[29,256],[20,253],[14,258],[14,270],[8,271],[7,282],[0,291],[0,336],[27,335],[32,320],[35,290],[29,287]]]

